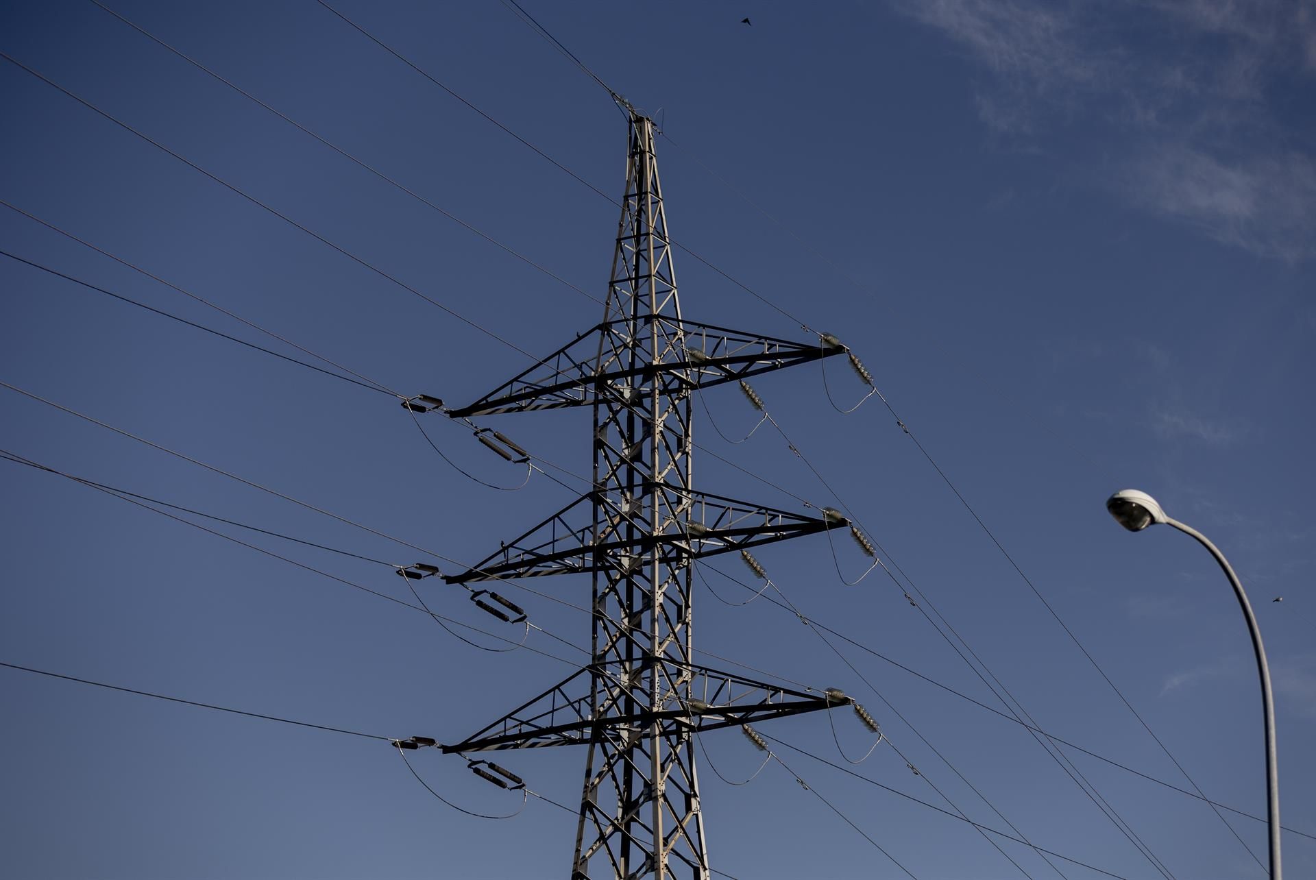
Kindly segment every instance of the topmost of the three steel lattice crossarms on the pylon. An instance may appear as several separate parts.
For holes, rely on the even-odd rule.
[[[659,338],[679,350],[662,362],[624,366],[612,358],[599,358],[600,337],[617,334],[644,337],[657,324]],[[625,342],[621,339],[620,342]],[[532,409],[559,409],[596,403],[600,396],[625,403],[632,389],[657,384],[680,393],[737,381],[783,367],[844,354],[845,346],[833,337],[816,343],[791,342],[769,335],[662,314],[638,320],[608,321],[558,349],[521,375],[499,385],[472,404],[447,410],[454,418],[490,416]]]

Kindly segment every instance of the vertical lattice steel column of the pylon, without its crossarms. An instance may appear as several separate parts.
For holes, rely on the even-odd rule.
[[[633,372],[597,388],[594,404],[594,542],[624,535],[641,550],[597,559],[591,667],[594,717],[649,721],[594,731],[574,880],[708,877],[694,741],[653,717],[684,705],[691,681],[688,560],[654,541],[687,533],[688,496],[665,489],[691,488],[691,401],[686,370],[657,370],[686,351],[653,141],[653,122],[630,110],[596,375]]]

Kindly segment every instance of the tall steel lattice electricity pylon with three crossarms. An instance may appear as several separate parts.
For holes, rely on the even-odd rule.
[[[442,750],[587,746],[572,880],[707,880],[692,737],[849,698],[695,664],[692,566],[736,551],[757,566],[749,547],[849,524],[833,510],[819,518],[695,491],[691,396],[845,349],[832,337],[804,345],[682,318],[654,126],[625,107],[626,188],[603,322],[475,403],[446,410],[454,418],[594,410],[592,489],[479,564],[443,576],[470,584],[590,572],[592,659]]]

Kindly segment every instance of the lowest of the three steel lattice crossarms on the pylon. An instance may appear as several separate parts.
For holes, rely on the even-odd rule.
[[[667,693],[657,710],[624,712],[620,698],[591,713],[591,677],[624,684],[617,664],[584,667],[466,739],[443,745],[445,752],[503,751],[587,745],[596,737],[625,738],[655,722],[665,735],[684,739],[694,733],[737,727],[786,716],[849,705],[836,691],[808,693],[755,681],[719,670],[661,660],[671,667],[665,679],[688,684]],[[613,668],[609,668],[613,667]],[[637,697],[642,695],[636,695]],[[628,701],[637,705],[634,701]],[[644,702],[638,702],[644,705]]]

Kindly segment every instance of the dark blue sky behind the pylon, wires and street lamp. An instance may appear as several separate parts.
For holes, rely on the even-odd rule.
[[[588,297],[605,291],[616,208],[324,5],[107,5],[484,237],[92,3],[4,4],[0,50],[379,271],[3,62],[0,197],[13,207],[407,395],[472,400],[528,366],[517,349],[546,354],[599,321]],[[333,5],[620,195],[622,117],[505,5]],[[1142,488],[1224,549],[1270,655],[1284,825],[1307,834],[1286,834],[1286,867],[1316,873],[1316,763],[1304,748],[1316,734],[1316,5],[522,5],[659,120],[672,235],[725,272],[676,254],[686,316],[841,337],[1196,785],[1263,816],[1259,697],[1228,584],[1186,537],[1130,535],[1103,502]],[[3,207],[0,241],[25,260],[303,356]],[[574,497],[572,477],[549,468],[572,488],[540,472],[516,492],[468,480],[378,389],[8,257],[0,289],[0,380],[378,533],[470,564]],[[826,380],[841,408],[863,395],[838,359]],[[1192,788],[879,399],[842,416],[816,367],[754,387],[804,458],[770,425],[728,443],[709,414],[738,439],[757,413],[720,388],[705,395],[709,412],[696,409],[696,439],[744,470],[700,452],[699,487],[801,512],[803,501],[841,502],[895,572],[841,583],[838,570],[854,580],[867,562],[844,534],[834,554],[822,537],[755,554],[807,617],[1005,712],[929,623],[936,608],[1038,726]],[[437,414],[421,424],[482,480],[525,479],[462,425]],[[588,471],[584,412],[482,424],[565,471]],[[3,388],[0,447],[384,563],[436,560]],[[571,671],[528,650],[475,650],[396,602],[29,467],[0,462],[0,497],[7,663],[440,741]],[[415,601],[387,566],[212,526]],[[716,567],[749,576],[736,560]],[[749,596],[708,579],[725,599]],[[567,579],[529,585],[567,602],[588,591]],[[457,588],[417,589],[454,621],[521,635]],[[537,626],[587,645],[579,610],[512,597]],[[732,606],[696,584],[696,601],[697,647],[841,687],[873,712],[890,743],[855,772],[994,829],[1008,821],[1038,847],[1113,875],[1161,876],[1020,725],[829,637],[842,659],[765,600]],[[525,645],[580,656],[540,631]],[[569,869],[572,816],[530,798],[515,819],[468,818],[383,742],[14,670],[0,670],[0,825],[14,876]],[[834,738],[821,716],[762,731],[849,767],[838,745],[857,758],[871,739],[853,716],[833,720]],[[709,848],[729,875],[899,875],[797,775],[917,877],[1058,876],[1026,846],[996,838],[1015,864],[965,822],[784,747],[794,775],[770,763],[753,783],[728,785],[713,767],[740,781],[761,754],[736,731],[704,746]],[[1166,873],[1263,876],[1200,800],[1066,755]],[[546,797],[579,797],[583,754],[500,763]],[[418,752],[413,766],[467,809],[519,806],[457,758]],[[1225,816],[1265,860],[1265,825]],[[1073,880],[1104,876],[1055,864]]]

